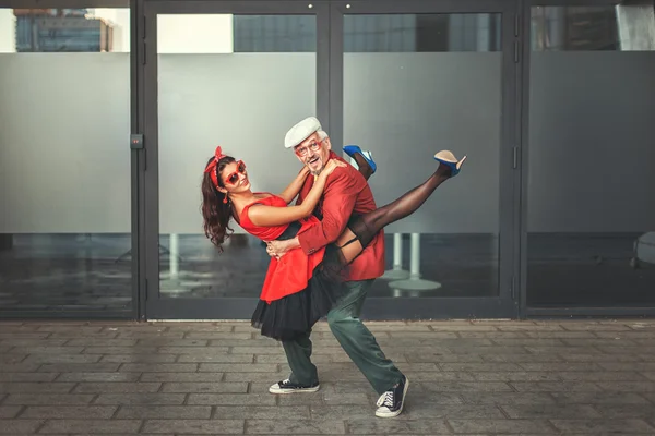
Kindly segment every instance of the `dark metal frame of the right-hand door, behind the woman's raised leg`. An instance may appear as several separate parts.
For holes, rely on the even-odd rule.
[[[367,299],[364,316],[391,318],[513,318],[519,315],[520,222],[520,49],[521,11],[515,0],[332,1],[330,10],[330,136],[338,153],[343,144],[344,14],[501,13],[502,120],[500,158],[499,294],[472,298]]]

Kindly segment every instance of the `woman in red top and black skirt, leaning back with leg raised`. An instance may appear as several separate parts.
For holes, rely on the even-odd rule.
[[[355,158],[360,168],[368,162],[361,156]],[[444,150],[434,155],[434,159],[440,165],[426,182],[385,206],[353,216],[334,243],[309,255],[296,249],[279,258],[272,258],[260,302],[252,315],[252,326],[260,328],[264,336],[291,340],[325,316],[340,296],[335,291],[340,287],[335,284],[342,280],[344,266],[364,251],[380,229],[413,214],[441,183],[456,175],[466,157],[457,160],[451,152]],[[246,164],[224,155],[217,147],[202,181],[205,235],[221,247],[231,232],[228,225],[234,218],[243,230],[264,242],[295,238],[319,222],[312,211],[327,177],[345,165],[330,159],[302,204],[288,206],[309,174],[307,167],[278,195],[253,192]],[[370,168],[361,171],[372,173]]]

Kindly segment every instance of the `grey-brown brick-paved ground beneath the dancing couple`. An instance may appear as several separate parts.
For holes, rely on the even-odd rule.
[[[403,415],[325,324],[322,389],[275,397],[248,323],[0,322],[0,434],[655,435],[655,320],[367,323],[412,385]]]

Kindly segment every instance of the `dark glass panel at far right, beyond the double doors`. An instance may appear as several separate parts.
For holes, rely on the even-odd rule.
[[[533,31],[527,304],[653,306],[653,4],[533,8]]]

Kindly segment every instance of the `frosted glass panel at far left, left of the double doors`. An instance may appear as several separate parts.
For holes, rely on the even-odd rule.
[[[129,16],[0,9],[2,311],[131,310]]]

